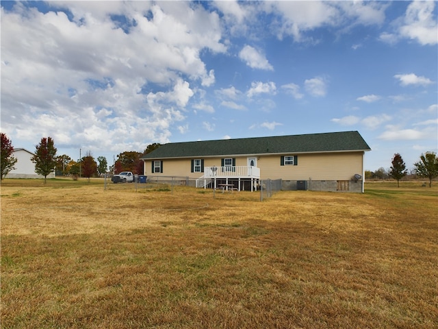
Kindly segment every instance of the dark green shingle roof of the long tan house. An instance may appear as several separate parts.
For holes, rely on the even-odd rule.
[[[142,159],[370,150],[370,147],[363,140],[359,132],[330,132],[323,134],[168,143],[161,145],[149,154],[144,154]]]

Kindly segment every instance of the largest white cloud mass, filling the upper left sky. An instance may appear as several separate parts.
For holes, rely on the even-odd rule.
[[[107,151],[123,145],[144,149],[144,141],[167,143],[171,125],[185,119],[181,110],[194,95],[190,86],[215,83],[201,51],[227,51],[218,14],[202,5],[50,5],[68,8],[71,15],[21,3],[1,8],[2,129],[11,127],[14,136],[33,143],[47,135],[66,147]],[[110,14],[125,15],[129,34]],[[35,123],[39,126],[27,129]]]

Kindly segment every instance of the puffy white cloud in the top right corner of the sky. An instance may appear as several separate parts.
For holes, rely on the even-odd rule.
[[[435,1],[412,1],[400,27],[400,36],[417,40],[421,45],[437,45]]]

